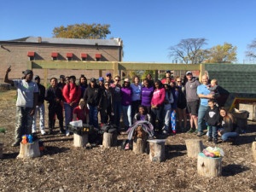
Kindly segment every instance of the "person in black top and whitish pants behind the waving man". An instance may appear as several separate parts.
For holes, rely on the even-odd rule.
[[[45,135],[44,131],[44,96],[45,96],[45,87],[40,84],[40,77],[38,75],[35,76],[35,82],[38,84],[38,104],[35,110],[35,114],[32,121],[32,133],[37,131],[37,115],[39,113],[40,121],[40,131],[42,135]]]

